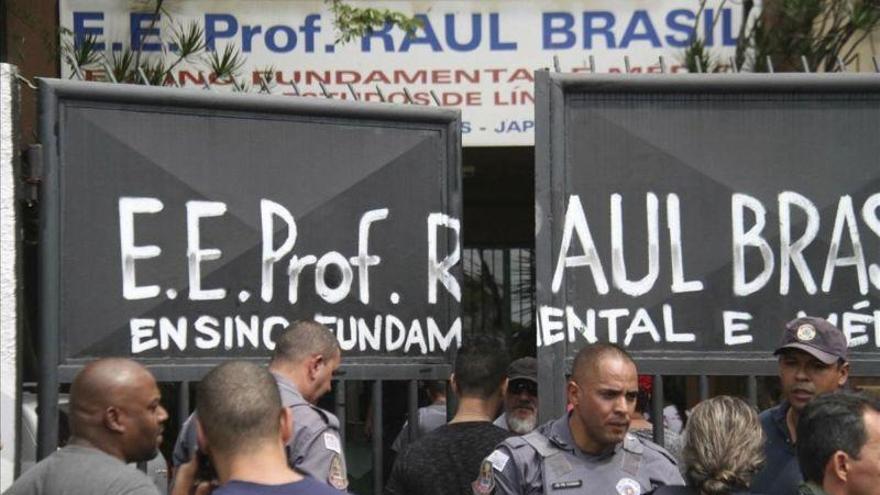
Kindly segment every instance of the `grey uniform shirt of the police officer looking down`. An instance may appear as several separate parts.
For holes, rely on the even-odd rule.
[[[339,420],[333,414],[310,404],[288,379],[272,373],[281,394],[281,403],[293,413],[293,438],[286,446],[291,467],[339,490],[348,487],[345,455],[339,437]],[[196,451],[195,413],[183,424],[174,445],[172,462],[188,462]]]

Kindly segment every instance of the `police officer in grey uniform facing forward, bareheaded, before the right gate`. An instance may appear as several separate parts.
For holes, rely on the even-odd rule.
[[[582,349],[568,382],[570,413],[503,441],[483,463],[474,492],[638,495],[683,485],[673,457],[628,434],[636,365],[610,344]]]

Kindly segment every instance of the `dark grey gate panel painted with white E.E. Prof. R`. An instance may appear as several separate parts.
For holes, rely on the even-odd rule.
[[[306,318],[349,365],[448,362],[457,111],[63,81],[41,97],[57,364],[265,356]]]

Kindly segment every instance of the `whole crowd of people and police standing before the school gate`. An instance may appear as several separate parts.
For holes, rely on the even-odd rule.
[[[566,384],[568,410],[539,425],[538,362],[511,362],[491,337],[466,339],[449,381],[452,419],[445,382],[428,383],[420,434],[411,438],[404,426],[395,440],[385,493],[880,494],[880,401],[847,389],[843,333],[798,318],[775,355],[779,405],[758,414],[735,397],[704,400],[680,437],[667,436],[675,439],[670,452],[651,441],[651,383],[624,349],[581,349]],[[340,361],[333,334],[302,321],[277,337],[267,367],[230,361],[211,370],[175,444],[171,493],[344,493],[339,421],[315,405]],[[155,495],[155,484],[126,463],[155,455],[167,418],[146,368],[92,362],[71,386],[70,441],[5,493]]]

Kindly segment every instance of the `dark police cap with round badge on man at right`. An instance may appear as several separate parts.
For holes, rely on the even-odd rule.
[[[796,318],[785,325],[782,342],[773,354],[778,355],[785,349],[804,351],[825,364],[846,361],[843,332],[828,321],[813,316]]]

